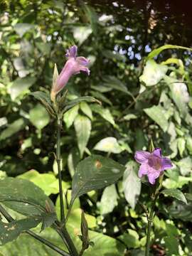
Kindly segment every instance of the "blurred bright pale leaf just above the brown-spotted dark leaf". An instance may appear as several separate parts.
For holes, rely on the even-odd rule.
[[[107,137],[100,140],[100,142],[97,142],[94,149],[114,154],[119,154],[122,151],[121,146],[117,142],[117,139],[114,137]]]

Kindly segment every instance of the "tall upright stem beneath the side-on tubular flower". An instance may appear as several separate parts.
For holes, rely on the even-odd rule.
[[[62,188],[62,176],[60,168],[60,129],[61,129],[61,119],[58,117],[57,120],[57,149],[56,149],[56,161],[58,164],[58,178],[59,178],[59,196],[60,196],[60,221],[64,223],[65,221],[65,212],[64,212],[64,203],[63,203],[63,188]]]

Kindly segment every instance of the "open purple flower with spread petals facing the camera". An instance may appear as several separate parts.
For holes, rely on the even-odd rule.
[[[161,149],[159,148],[154,149],[152,153],[142,150],[136,151],[134,159],[139,164],[142,164],[139,167],[139,178],[147,175],[151,184],[155,183],[156,178],[158,178],[164,170],[172,167],[171,160],[167,157],[163,157]]]

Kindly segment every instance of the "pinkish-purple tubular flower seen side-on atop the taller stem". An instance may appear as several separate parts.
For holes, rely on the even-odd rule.
[[[60,92],[60,90],[65,87],[68,80],[72,75],[76,75],[83,71],[90,75],[90,70],[87,68],[89,64],[89,60],[85,57],[77,57],[78,47],[72,46],[66,53],[66,57],[68,58],[67,62],[65,63],[63,70],[61,71],[60,75],[58,75],[57,80],[53,84],[51,90],[51,98],[53,99],[55,95]]]

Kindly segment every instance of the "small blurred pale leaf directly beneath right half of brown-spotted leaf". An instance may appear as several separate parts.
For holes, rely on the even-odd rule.
[[[100,213],[102,215],[111,213],[115,206],[117,206],[117,191],[114,184],[112,184],[107,186],[102,193]]]

